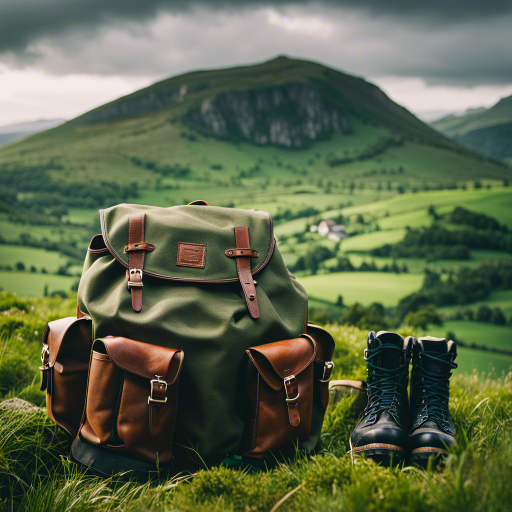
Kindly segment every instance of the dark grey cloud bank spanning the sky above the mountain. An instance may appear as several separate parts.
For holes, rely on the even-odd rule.
[[[508,0],[2,0],[0,61],[156,79],[285,53],[362,76],[476,86],[510,83],[510,26]]]

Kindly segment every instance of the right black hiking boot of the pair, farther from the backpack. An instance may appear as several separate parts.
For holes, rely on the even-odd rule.
[[[415,340],[410,400],[411,462],[424,465],[431,456],[437,461],[455,444],[448,400],[456,357],[452,341],[431,336]]]

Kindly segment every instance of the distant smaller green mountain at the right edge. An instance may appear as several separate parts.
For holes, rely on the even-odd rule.
[[[471,150],[512,163],[512,96],[490,109],[446,116],[432,126]]]

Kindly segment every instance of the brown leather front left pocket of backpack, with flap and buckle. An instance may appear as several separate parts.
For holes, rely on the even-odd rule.
[[[182,362],[181,350],[96,339],[80,436],[148,462],[170,461]]]

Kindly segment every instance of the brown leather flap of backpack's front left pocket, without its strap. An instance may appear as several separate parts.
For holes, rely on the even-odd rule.
[[[148,379],[160,376],[167,384],[176,381],[183,362],[182,350],[136,342],[120,336],[96,339],[93,350],[108,354],[110,360],[122,370]]]

